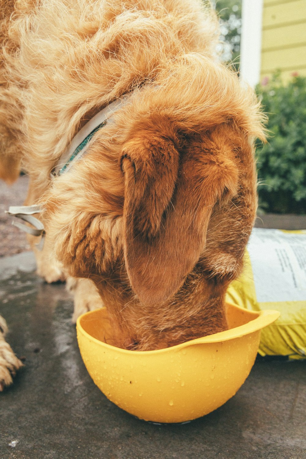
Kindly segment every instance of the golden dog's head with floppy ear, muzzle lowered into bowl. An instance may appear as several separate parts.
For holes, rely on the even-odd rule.
[[[226,327],[225,291],[256,212],[261,118],[236,75],[185,56],[54,181],[47,238],[69,274],[95,281],[119,345],[163,347]]]

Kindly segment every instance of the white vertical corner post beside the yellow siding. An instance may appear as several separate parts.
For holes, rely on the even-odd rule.
[[[263,0],[242,0],[240,75],[251,86],[259,83]]]

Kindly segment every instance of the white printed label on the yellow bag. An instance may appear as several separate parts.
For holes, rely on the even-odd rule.
[[[258,302],[306,302],[306,232],[254,228],[247,250]]]

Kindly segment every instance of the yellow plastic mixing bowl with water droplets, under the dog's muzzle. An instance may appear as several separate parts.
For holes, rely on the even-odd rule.
[[[260,331],[277,311],[227,305],[229,330],[157,351],[106,344],[105,308],[77,321],[78,345],[95,384],[113,403],[140,419],[184,422],[210,413],[238,391],[250,373]]]

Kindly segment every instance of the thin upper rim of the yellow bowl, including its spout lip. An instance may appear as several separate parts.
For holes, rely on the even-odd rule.
[[[153,354],[161,354],[172,352],[180,349],[184,349],[185,347],[194,346],[197,344],[211,344],[211,343],[221,343],[223,341],[230,341],[236,338],[241,338],[242,336],[250,335],[262,328],[266,327],[267,325],[271,325],[275,320],[278,319],[280,316],[280,312],[276,311],[275,309],[263,309],[261,311],[250,311],[246,308],[241,308],[236,304],[231,302],[227,302],[230,307],[239,309],[240,311],[244,311],[250,313],[250,315],[254,316],[254,319],[251,319],[244,325],[239,325],[238,327],[231,328],[229,330],[219,331],[218,333],[214,333],[213,335],[203,336],[200,338],[195,338],[193,340],[185,341],[181,344],[176,344],[175,346],[165,347],[163,349],[155,349],[152,351],[132,351],[128,349],[122,349],[121,347],[112,346],[104,341],[100,341],[94,336],[91,336],[87,331],[85,331],[81,325],[81,320],[88,315],[95,314],[97,311],[101,309],[107,309],[106,307],[94,309],[93,311],[88,311],[87,313],[82,314],[78,317],[76,328],[77,331],[82,333],[86,338],[89,340],[99,344],[102,347],[109,348],[111,350],[116,350],[119,353],[128,354],[128,355],[153,355]]]

